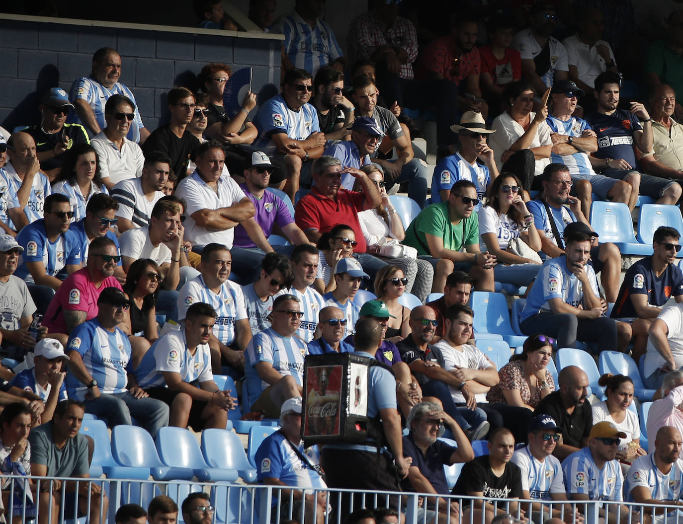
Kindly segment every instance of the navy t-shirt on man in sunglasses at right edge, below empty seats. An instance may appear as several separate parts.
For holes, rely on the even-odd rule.
[[[683,295],[683,272],[677,265],[669,264],[657,278],[652,270],[652,257],[641,259],[628,268],[614,303],[613,319],[636,318],[638,313],[631,302],[631,295],[647,295],[647,304],[663,306],[673,295]]]

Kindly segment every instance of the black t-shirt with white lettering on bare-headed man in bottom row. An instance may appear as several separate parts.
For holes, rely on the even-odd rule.
[[[451,493],[453,495],[467,495],[468,492],[482,491],[490,503],[499,504],[505,508],[505,503],[498,499],[519,499],[522,494],[522,472],[515,463],[505,464],[505,471],[499,477],[493,474],[488,455],[476,456],[473,461],[466,463],[460,471],[458,482]]]

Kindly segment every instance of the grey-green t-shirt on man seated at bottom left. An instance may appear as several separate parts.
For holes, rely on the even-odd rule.
[[[52,424],[46,422],[33,428],[29,435],[31,463],[47,467],[48,477],[80,477],[87,475],[87,439],[79,433],[66,441],[63,449],[57,449],[52,441]]]

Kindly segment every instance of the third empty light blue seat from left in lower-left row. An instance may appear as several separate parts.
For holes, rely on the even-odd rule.
[[[235,469],[209,467],[204,461],[204,456],[201,455],[195,435],[185,428],[161,428],[156,434],[156,450],[165,465],[192,469],[201,481],[234,482],[239,476]]]

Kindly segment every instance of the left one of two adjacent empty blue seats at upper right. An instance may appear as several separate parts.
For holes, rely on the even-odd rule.
[[[595,202],[591,205],[591,226],[600,235],[600,244],[613,242],[622,254],[652,254],[652,245],[637,242],[628,205],[621,202]]]

